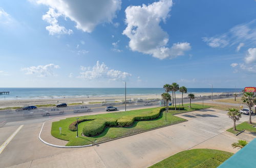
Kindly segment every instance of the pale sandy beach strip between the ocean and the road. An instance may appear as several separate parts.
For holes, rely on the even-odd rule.
[[[172,95],[172,93],[170,93]],[[211,93],[194,93],[196,97],[211,96]],[[213,93],[213,95],[222,95],[227,93]],[[188,93],[183,94],[187,97]],[[176,94],[176,98],[181,98],[181,94]],[[161,94],[147,94],[147,95],[126,95],[126,100],[137,99],[161,99]],[[14,107],[14,106],[27,106],[37,104],[58,104],[58,103],[82,103],[90,104],[89,102],[105,102],[105,101],[123,101],[124,95],[120,96],[101,96],[101,97],[80,97],[80,98],[49,98],[49,99],[16,99],[16,100],[0,100],[0,108]]]

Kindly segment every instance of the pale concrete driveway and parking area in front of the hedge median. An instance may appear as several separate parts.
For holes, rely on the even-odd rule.
[[[14,138],[9,146],[11,148],[14,146],[12,143],[16,143],[18,151],[22,151],[4,151],[0,163],[4,167],[147,167],[188,149],[210,148],[237,152],[231,147],[233,142],[238,139],[251,141],[256,137],[252,134],[234,136],[225,132],[233,124],[226,116],[226,111],[209,108],[177,116],[188,121],[80,149],[58,149],[42,144],[38,139],[26,143],[25,135],[29,132],[23,132],[25,135],[19,139],[22,144]],[[243,115],[240,122],[247,120],[248,116]],[[36,130],[40,129],[39,125],[34,126]],[[27,150],[33,151],[33,154]]]

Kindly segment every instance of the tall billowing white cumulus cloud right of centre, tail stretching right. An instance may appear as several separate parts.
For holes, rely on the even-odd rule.
[[[159,23],[165,22],[173,6],[172,0],[160,0],[150,5],[129,6],[125,9],[126,29],[123,35],[130,38],[129,47],[133,51],[151,54],[158,59],[175,58],[189,50],[190,44],[176,43],[167,47],[168,34]]]

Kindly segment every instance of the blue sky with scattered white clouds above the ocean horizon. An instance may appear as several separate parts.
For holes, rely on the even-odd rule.
[[[0,87],[255,86],[255,16],[253,0],[2,0]]]

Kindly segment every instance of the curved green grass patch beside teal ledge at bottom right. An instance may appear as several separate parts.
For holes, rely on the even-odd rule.
[[[192,149],[179,152],[150,167],[218,167],[232,155],[214,149]]]

